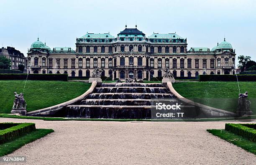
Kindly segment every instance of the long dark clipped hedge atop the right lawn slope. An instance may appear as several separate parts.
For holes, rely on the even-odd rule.
[[[237,75],[238,81],[256,81],[256,75]],[[210,74],[199,75],[199,81],[237,81],[236,75]]]

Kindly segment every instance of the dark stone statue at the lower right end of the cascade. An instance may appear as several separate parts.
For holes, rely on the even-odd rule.
[[[251,115],[253,112],[250,110],[251,102],[247,99],[248,91],[244,94],[239,94],[238,107],[236,113],[238,116]]]

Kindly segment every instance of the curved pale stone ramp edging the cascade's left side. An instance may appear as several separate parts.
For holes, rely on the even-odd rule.
[[[78,96],[77,98],[74,98],[74,99],[69,100],[67,102],[57,104],[57,105],[54,105],[54,106],[51,106],[51,107],[38,109],[36,111],[27,112],[27,116],[39,116],[39,115],[45,116],[45,115],[54,114],[55,112],[59,111],[61,108],[84,99],[85,96],[92,93],[92,91],[95,89],[96,86],[97,86],[97,82],[93,81],[91,87],[86,92],[84,92],[84,94]]]

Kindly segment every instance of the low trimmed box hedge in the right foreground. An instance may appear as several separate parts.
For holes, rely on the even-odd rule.
[[[252,142],[256,142],[256,129],[246,127],[242,124],[226,123],[225,130],[230,131],[236,135],[245,137]]]

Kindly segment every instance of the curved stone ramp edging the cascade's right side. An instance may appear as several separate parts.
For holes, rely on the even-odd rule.
[[[207,115],[209,117],[237,117],[236,113],[225,111],[225,110],[214,108],[214,107],[210,107],[210,106],[200,104],[197,102],[193,102],[189,99],[184,98],[173,88],[171,82],[167,82],[167,87],[172,92],[172,94],[174,94],[174,96],[176,96],[182,102],[199,108],[200,111],[202,111],[205,115]]]

